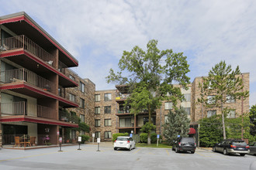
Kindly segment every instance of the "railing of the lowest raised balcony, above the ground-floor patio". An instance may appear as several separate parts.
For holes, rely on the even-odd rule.
[[[54,109],[36,104],[27,104],[26,101],[2,103],[1,113],[8,115],[29,115],[32,117],[43,117],[49,119],[57,118],[57,115],[54,113]]]

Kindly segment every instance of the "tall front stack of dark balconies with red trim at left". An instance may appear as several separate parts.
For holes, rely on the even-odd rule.
[[[25,12],[0,17],[0,146],[14,144],[21,134],[37,145],[57,144],[64,128],[59,110],[79,107],[60,93],[78,87],[64,70],[78,60]]]

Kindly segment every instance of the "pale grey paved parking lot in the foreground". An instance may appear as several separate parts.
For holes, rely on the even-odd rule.
[[[249,169],[253,155],[226,156],[206,149],[195,154],[165,148],[114,151],[112,146],[81,145],[36,150],[0,150],[0,169]]]

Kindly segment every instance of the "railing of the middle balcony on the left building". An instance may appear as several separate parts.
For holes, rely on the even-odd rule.
[[[26,81],[36,87],[42,88],[43,90],[54,92],[54,83],[24,68],[2,71],[0,73],[0,81],[2,83]]]

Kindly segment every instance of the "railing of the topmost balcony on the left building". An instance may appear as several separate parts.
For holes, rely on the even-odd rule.
[[[26,49],[40,59],[43,59],[43,61],[48,63],[50,66],[54,66],[54,56],[24,35],[0,39],[0,49],[2,51]]]

